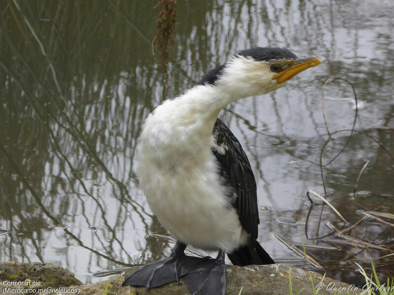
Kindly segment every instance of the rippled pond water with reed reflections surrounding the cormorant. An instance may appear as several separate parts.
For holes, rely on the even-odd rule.
[[[96,271],[168,255],[173,243],[137,186],[141,124],[165,97],[191,87],[238,49],[270,45],[323,64],[220,115],[256,175],[259,241],[279,262],[319,269],[276,237],[302,244],[301,228],[307,253],[323,272],[360,283],[354,262],[368,269],[373,258],[382,277],[393,277],[392,259],[378,259],[393,251],[393,227],[363,219],[346,233],[388,250],[363,249],[334,234],[315,240],[332,233],[328,221],[345,225],[316,198],[311,206],[306,192],[324,193],[319,158],[328,136],[321,95],[330,76],[354,83],[360,107],[355,129],[394,154],[394,3],[178,2],[167,76],[152,56],[156,1],[2,5],[0,261],[54,263],[91,282],[98,280],[91,276]],[[332,82],[325,97],[330,132],[351,129],[351,87]],[[324,165],[349,135],[335,134]],[[353,198],[368,160],[357,190],[373,194]],[[394,194],[394,160],[369,137],[355,133],[323,172],[328,200],[350,223],[362,218],[357,210],[394,213],[393,196],[382,196]]]

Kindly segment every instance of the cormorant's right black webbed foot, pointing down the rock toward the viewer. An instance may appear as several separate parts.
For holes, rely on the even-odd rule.
[[[181,277],[189,291],[199,295],[226,294],[225,251],[220,250],[216,259],[188,257],[181,267]]]

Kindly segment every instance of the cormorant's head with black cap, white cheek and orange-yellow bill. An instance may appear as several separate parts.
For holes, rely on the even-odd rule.
[[[296,74],[320,63],[317,58],[298,59],[286,48],[256,47],[239,51],[199,83],[217,85],[238,98],[262,95],[283,87]]]

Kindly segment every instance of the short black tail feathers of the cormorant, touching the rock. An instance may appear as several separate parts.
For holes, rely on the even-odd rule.
[[[246,245],[227,255],[234,266],[266,265],[275,263],[268,253],[265,252],[262,245],[260,245],[257,240],[252,240],[252,238]]]

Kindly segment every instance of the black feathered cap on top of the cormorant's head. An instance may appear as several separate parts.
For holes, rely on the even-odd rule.
[[[285,47],[255,47],[238,51],[238,56],[268,61],[272,59],[298,59],[297,56]]]

